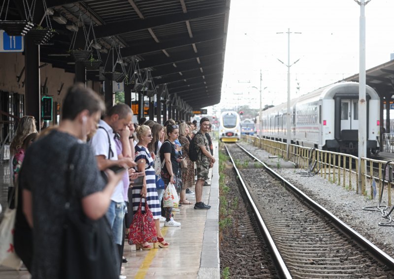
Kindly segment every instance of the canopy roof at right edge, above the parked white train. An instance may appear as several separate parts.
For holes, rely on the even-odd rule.
[[[344,80],[359,82],[359,74]],[[394,94],[394,60],[366,70],[366,84],[374,88],[381,98],[391,98]]]

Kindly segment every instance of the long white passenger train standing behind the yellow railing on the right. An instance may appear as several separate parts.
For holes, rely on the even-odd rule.
[[[379,152],[380,98],[366,86],[367,151]],[[291,100],[292,143],[344,153],[357,153],[359,130],[359,84],[341,82],[319,88]],[[287,103],[256,117],[256,134],[286,142]]]

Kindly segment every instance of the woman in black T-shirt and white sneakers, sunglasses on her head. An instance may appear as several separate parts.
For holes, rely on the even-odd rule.
[[[166,133],[168,139],[165,140],[160,148],[160,158],[162,162],[165,161],[164,166],[162,167],[161,176],[164,180],[165,189],[168,186],[168,183],[172,183],[177,187],[176,181],[181,179],[179,175],[179,162],[182,159],[178,159],[178,156],[175,152],[175,140],[178,139],[179,135],[179,126],[175,124],[168,124],[166,127]],[[180,226],[181,223],[176,222],[172,219],[172,207],[164,207],[165,212],[165,222],[164,226]]]

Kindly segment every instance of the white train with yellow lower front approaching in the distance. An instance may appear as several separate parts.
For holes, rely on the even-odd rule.
[[[241,139],[241,118],[237,112],[222,112],[220,115],[219,140],[235,142]]]

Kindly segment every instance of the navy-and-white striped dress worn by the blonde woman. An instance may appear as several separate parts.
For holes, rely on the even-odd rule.
[[[135,162],[138,160],[145,160],[145,176],[146,176],[146,200],[149,205],[149,209],[152,211],[153,219],[160,219],[162,210],[160,208],[159,196],[156,190],[156,176],[155,169],[153,168],[153,159],[148,149],[141,145],[135,146]],[[140,186],[133,186],[131,189],[132,193],[132,210],[134,214],[138,210],[139,202],[141,201],[141,189]],[[142,212],[145,212],[145,202],[142,202]]]

